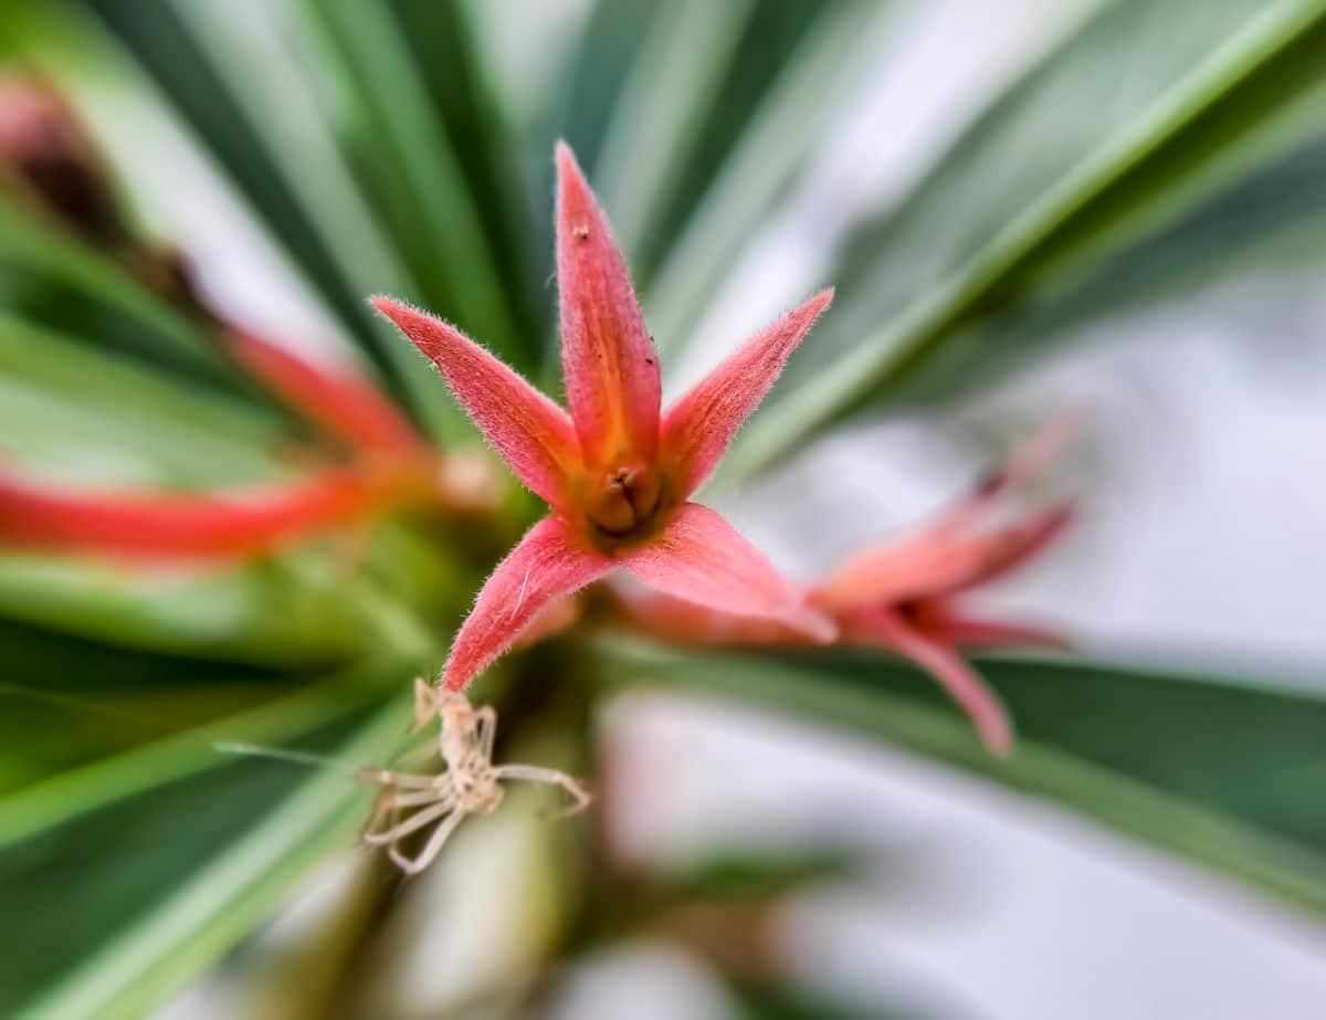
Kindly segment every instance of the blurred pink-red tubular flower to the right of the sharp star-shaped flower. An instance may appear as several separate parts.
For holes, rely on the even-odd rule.
[[[806,592],[831,617],[838,642],[888,649],[931,672],[975,722],[996,755],[1013,747],[1013,728],[996,695],[963,661],[960,647],[1061,647],[1055,634],[965,611],[961,597],[1017,569],[1059,536],[1073,516],[1067,503],[1000,521],[1005,497],[1024,488],[1078,431],[1077,413],[1052,420],[1009,462],[983,479],[919,532],[869,546]],[[655,592],[618,586],[621,617],[666,641],[745,647],[800,646],[802,634],[777,621],[715,613]]]

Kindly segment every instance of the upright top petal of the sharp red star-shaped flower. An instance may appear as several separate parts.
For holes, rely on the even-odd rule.
[[[585,459],[603,463],[658,447],[658,355],[594,194],[565,143],[557,146],[557,288],[562,374]]]

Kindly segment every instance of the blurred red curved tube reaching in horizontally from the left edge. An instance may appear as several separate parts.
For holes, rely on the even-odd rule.
[[[0,471],[0,542],[149,561],[251,556],[391,499],[342,471],[225,495],[73,493]]]

